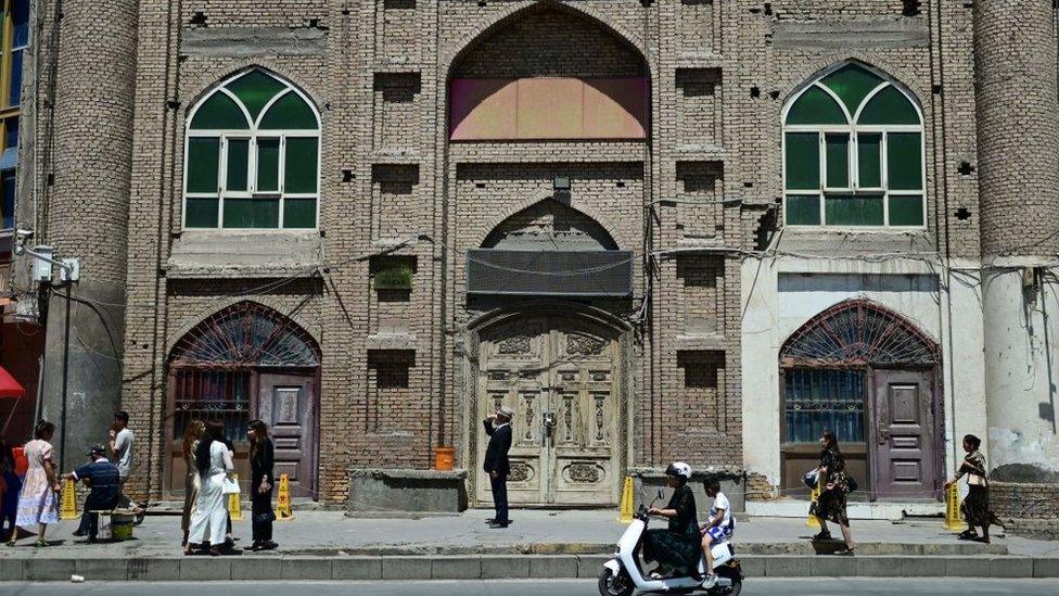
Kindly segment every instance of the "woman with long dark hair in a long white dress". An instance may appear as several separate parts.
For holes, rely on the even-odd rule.
[[[188,543],[202,545],[209,543],[209,555],[220,555],[225,544],[225,525],[228,519],[225,498],[225,479],[235,469],[231,453],[225,446],[225,426],[218,421],[206,423],[206,433],[195,449],[195,464],[202,477],[199,503],[191,517]],[[187,550],[190,553],[190,549]]]

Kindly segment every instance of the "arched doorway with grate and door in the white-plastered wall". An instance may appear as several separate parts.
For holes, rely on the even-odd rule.
[[[867,300],[812,318],[779,355],[783,487],[815,465],[822,429],[835,432],[871,499],[936,498],[943,418],[937,344]]]

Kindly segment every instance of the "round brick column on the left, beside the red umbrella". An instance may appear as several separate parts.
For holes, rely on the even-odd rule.
[[[66,288],[50,294],[44,346],[43,415],[62,424],[65,403],[52,443],[65,435],[69,468],[106,439],[122,401],[138,1],[67,0],[62,11],[55,60],[40,65],[55,88],[51,158],[38,165],[52,179],[41,240],[81,259],[68,310]]]

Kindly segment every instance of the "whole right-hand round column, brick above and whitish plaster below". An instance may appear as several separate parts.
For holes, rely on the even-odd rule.
[[[1055,11],[974,3],[988,457],[1012,482],[1059,482]]]

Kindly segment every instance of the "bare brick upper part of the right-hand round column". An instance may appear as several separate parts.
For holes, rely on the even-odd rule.
[[[1059,251],[1054,4],[975,2],[982,243],[987,255]],[[1024,225],[1037,225],[1026,229]]]

